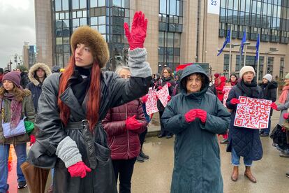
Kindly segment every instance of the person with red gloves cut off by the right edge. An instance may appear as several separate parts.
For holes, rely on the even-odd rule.
[[[276,105],[276,103],[272,103],[274,110],[281,111],[278,122],[279,125],[282,125],[283,122],[288,119],[285,114],[288,113],[289,108],[289,73],[284,77],[284,83],[281,95],[279,96],[280,104]],[[277,149],[281,151],[280,157],[289,157],[289,145],[278,145]]]

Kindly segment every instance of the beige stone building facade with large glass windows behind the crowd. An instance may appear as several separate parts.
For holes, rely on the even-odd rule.
[[[260,33],[260,71],[274,77],[289,72],[289,1],[288,0],[39,0],[36,3],[36,44],[38,62],[65,66],[71,56],[70,36],[77,27],[88,24],[108,42],[114,70],[118,61],[126,61],[127,40],[124,22],[142,10],[149,20],[147,60],[153,73],[178,64],[209,63],[210,73],[228,76],[244,65],[239,46],[226,47],[217,57],[218,48],[232,27],[232,44],[240,44],[246,29],[246,65],[257,70],[255,44]],[[41,6],[40,6],[41,5]],[[40,16],[40,17],[39,17]],[[45,21],[43,21],[45,20]],[[278,50],[278,51],[277,51]],[[231,62],[229,62],[231,58]]]

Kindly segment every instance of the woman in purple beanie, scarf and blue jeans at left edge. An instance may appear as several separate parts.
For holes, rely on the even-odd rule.
[[[15,128],[24,117],[26,121],[34,122],[35,112],[31,100],[31,92],[23,90],[20,86],[20,73],[13,71],[6,73],[0,87],[0,103],[2,109],[1,122],[10,122],[10,127]],[[0,192],[8,192],[8,157],[10,145],[13,144],[17,155],[17,182],[18,189],[27,187],[24,174],[20,166],[27,159],[27,142],[35,142],[35,131],[5,138],[2,124],[0,124]]]

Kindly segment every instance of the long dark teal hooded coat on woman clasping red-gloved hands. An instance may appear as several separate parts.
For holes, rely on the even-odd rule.
[[[223,134],[230,123],[230,113],[214,94],[207,92],[209,78],[199,65],[187,66],[181,82],[192,73],[205,77],[200,92],[188,94],[183,84],[181,93],[172,97],[161,117],[165,130],[176,135],[175,166],[170,192],[223,192],[220,149],[216,134]],[[194,108],[207,112],[205,124],[196,118],[186,122],[184,114]]]

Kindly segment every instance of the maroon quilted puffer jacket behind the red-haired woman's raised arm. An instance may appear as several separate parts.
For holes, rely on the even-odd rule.
[[[135,119],[142,123],[140,129],[126,129],[126,119],[136,115]],[[140,100],[110,108],[103,120],[103,127],[108,133],[108,144],[112,159],[132,159],[140,154],[141,134],[147,129],[147,122],[142,111]]]

